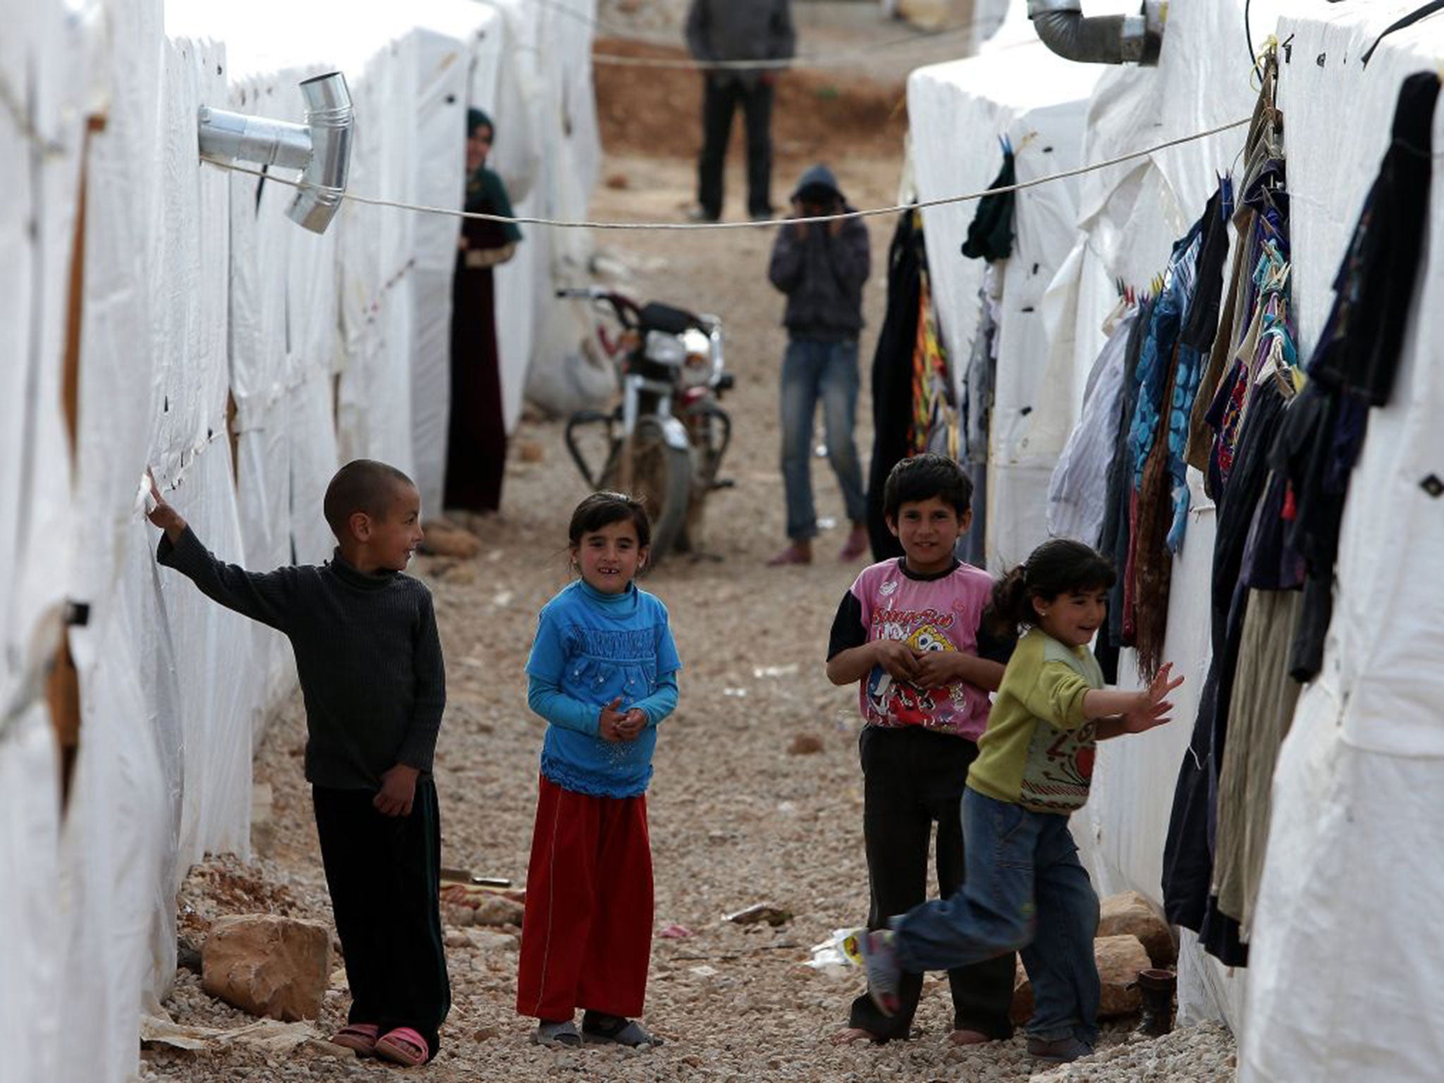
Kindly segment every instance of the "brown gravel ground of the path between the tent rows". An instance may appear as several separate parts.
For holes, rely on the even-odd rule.
[[[778,165],[786,183],[804,163]],[[624,188],[602,189],[596,217],[651,218],[687,201],[692,166],[680,160],[609,159]],[[848,160],[839,169],[853,202],[891,202],[895,160]],[[736,198],[739,176],[729,191]],[[884,256],[892,224],[869,219],[875,277],[866,292],[871,358],[881,323]],[[775,378],[784,345],[780,299],[767,286],[770,234],[615,234],[602,243],[609,266],[630,270],[641,297],[722,315],[738,388],[726,406],[736,425],[734,490],[708,507],[706,556],[669,562],[647,580],[670,606],[684,671],[682,702],[663,726],[648,794],[657,879],[657,928],[680,924],[684,939],[657,939],[648,1025],[666,1045],[645,1051],[543,1051],[513,1011],[517,930],[449,930],[453,1008],[433,1080],[1027,1080],[1040,1066],[1022,1040],[983,1047],[947,1044],[946,982],[930,978],[917,1037],[885,1047],[836,1048],[861,988],[855,970],[807,966],[810,949],[866,915],[862,788],[853,690],[832,687],[823,653],[833,609],[858,566],[832,559],[839,530],[819,540],[810,567],[770,569],[783,543],[777,472]],[[866,361],[865,361],[866,364]],[[864,381],[866,383],[866,381]],[[871,446],[864,394],[859,440]],[[413,572],[436,596],[448,660],[449,703],[436,755],[443,862],[474,872],[526,878],[542,723],[524,703],[523,663],[539,606],[566,580],[565,530],[585,487],[556,423],[527,419],[508,465],[505,511],[481,520],[474,560],[419,557]],[[819,513],[842,518],[826,464],[814,464]],[[199,943],[225,913],[276,911],[329,920],[309,794],[300,774],[299,697],[270,728],[256,781],[273,790],[271,823],[257,830],[257,861],[214,859],[192,872],[180,895],[182,934]],[[799,736],[813,754],[788,749]],[[734,926],[722,914],[752,902],[794,914],[778,928]],[[212,1001],[182,970],[165,1005],[180,1024],[234,1028],[244,1014]],[[326,996],[319,1032],[339,1025],[345,996]],[[1105,1034],[1103,1048],[1057,1074],[1066,1080],[1220,1080],[1233,1074],[1233,1043],[1216,1028],[1160,1041]],[[300,1080],[371,1077],[373,1061],[308,1044],[284,1056],[231,1045],[186,1053],[153,1045],[147,1080]]]

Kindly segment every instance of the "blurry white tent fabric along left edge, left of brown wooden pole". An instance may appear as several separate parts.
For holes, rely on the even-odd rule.
[[[0,19],[0,85],[19,103],[0,111],[0,1028],[30,1035],[7,1071],[53,1079],[61,793],[43,682],[74,523],[61,386],[87,88],[58,62],[81,39],[58,7],[7,0]]]

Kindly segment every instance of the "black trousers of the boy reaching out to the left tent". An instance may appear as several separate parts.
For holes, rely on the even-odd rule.
[[[370,790],[313,786],[310,796],[351,986],[347,1022],[374,1022],[381,1034],[410,1027],[435,1057],[451,1011],[436,784],[417,780],[409,816],[383,816]]]

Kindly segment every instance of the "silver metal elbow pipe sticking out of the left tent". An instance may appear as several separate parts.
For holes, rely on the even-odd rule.
[[[300,92],[306,100],[305,124],[202,105],[201,156],[300,169],[302,188],[286,214],[312,232],[325,232],[347,191],[355,114],[341,72],[306,79]]]

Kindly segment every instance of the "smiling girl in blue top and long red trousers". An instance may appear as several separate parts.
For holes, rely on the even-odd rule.
[[[539,1019],[543,1045],[656,1045],[632,1019],[651,959],[645,793],[682,663],[667,606],[632,583],[651,540],[643,505],[593,492],[567,537],[580,579],[542,606],[527,661],[527,703],[547,729],[517,1011]]]

